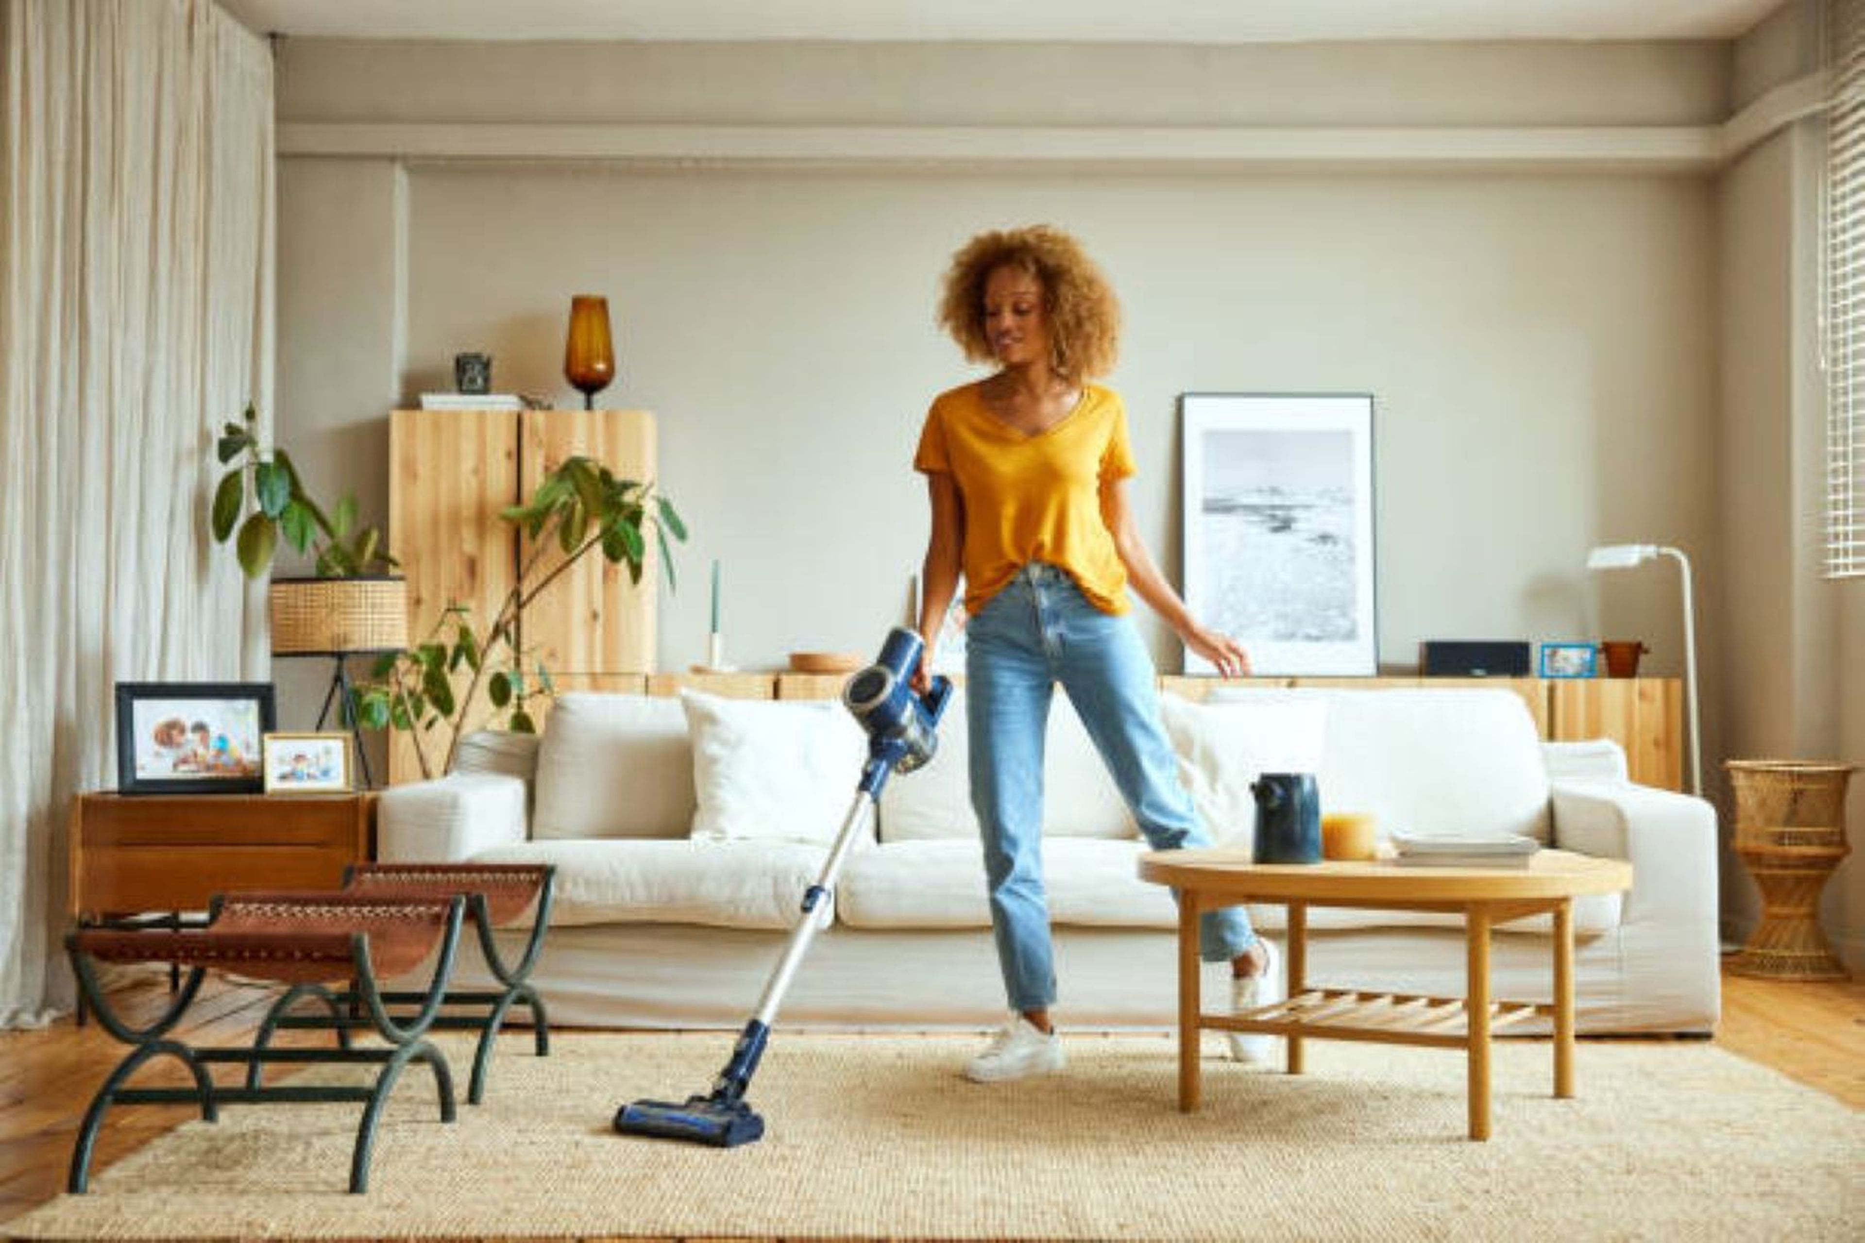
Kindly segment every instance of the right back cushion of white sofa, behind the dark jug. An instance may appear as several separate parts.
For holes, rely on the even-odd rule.
[[[1363,811],[1391,833],[1522,833],[1550,840],[1548,770],[1535,719],[1518,695],[1471,690],[1214,688],[1214,703],[1320,697],[1328,740],[1324,811]]]

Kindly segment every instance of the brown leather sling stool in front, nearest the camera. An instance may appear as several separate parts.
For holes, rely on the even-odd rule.
[[[356,1127],[356,1146],[351,1152],[349,1189],[358,1195],[367,1191],[375,1126],[403,1066],[425,1062],[433,1068],[440,1094],[440,1120],[453,1122],[453,1075],[440,1049],[423,1036],[440,1014],[464,913],[466,900],[459,896],[384,900],[349,893],[246,893],[214,898],[205,922],[179,930],[86,928],[67,936],[65,952],[97,1021],[112,1036],[132,1045],[84,1114],[71,1154],[69,1191],[82,1193],[90,1185],[97,1131],[104,1113],[119,1101],[198,1103],[207,1122],[218,1118],[220,1105],[366,1101]],[[377,980],[405,975],[429,956],[436,960],[423,1004],[410,1019],[395,1021],[384,1006]],[[97,980],[99,962],[179,963],[188,967],[188,978],[155,1023],[132,1029],[110,1006]],[[354,990],[347,997],[354,997],[364,1008],[367,1027],[388,1047],[351,1047],[349,1027],[362,1027],[360,1021],[338,1027],[336,1049],[272,1049],[265,1042],[256,1042],[250,1049],[201,1049],[170,1040],[168,1032],[192,1004],[209,969],[285,984],[285,995],[270,1014],[282,1014],[297,1001],[315,997],[334,1016],[341,1016],[341,1003],[328,986],[354,980]],[[144,1062],[162,1055],[179,1059],[188,1068],[194,1075],[192,1088],[123,1086]],[[216,1085],[207,1073],[211,1062],[246,1066],[246,1085]],[[278,1062],[379,1064],[380,1072],[369,1086],[261,1086],[259,1070]]]

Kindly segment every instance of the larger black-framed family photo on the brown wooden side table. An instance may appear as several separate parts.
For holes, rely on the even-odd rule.
[[[121,794],[259,794],[270,682],[117,682]]]

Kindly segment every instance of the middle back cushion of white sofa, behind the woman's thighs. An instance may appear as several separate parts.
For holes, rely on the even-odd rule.
[[[979,839],[964,714],[964,690],[953,688],[951,704],[940,719],[938,755],[925,768],[890,779],[880,792],[880,840]],[[1043,742],[1043,837],[1138,835],[1082,717],[1069,697],[1057,691]]]

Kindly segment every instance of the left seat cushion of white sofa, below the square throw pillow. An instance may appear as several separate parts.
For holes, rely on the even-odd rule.
[[[554,863],[552,924],[791,928],[826,854],[798,842],[556,840],[474,863]]]

